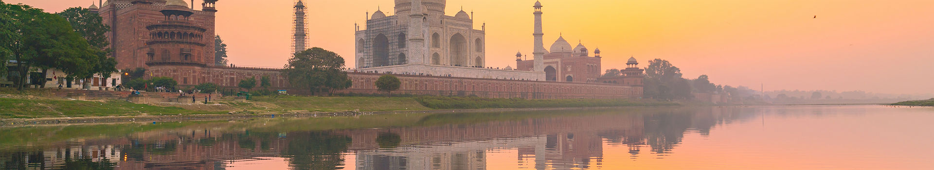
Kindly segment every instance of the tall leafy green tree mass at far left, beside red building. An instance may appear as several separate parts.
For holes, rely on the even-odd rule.
[[[25,5],[4,4],[0,8],[12,19],[9,29],[13,34],[2,46],[18,62],[18,90],[23,90],[26,75],[35,68],[43,72],[43,77],[48,69],[55,68],[68,75],[65,78],[90,78],[103,64],[116,64],[113,59],[101,60],[103,52],[92,48],[59,15]]]

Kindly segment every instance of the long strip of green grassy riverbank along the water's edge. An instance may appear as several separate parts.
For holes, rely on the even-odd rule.
[[[678,106],[672,102],[636,99],[490,99],[479,97],[317,97],[257,96],[248,103],[134,104],[122,100],[77,101],[54,97],[50,90],[0,90],[0,120],[86,118],[114,116],[166,116],[227,113],[287,113],[343,111],[399,111],[480,108],[546,108],[595,106]]]

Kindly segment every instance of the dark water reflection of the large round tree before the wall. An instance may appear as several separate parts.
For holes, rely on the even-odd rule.
[[[332,135],[328,132],[298,132],[290,133],[288,146],[282,155],[288,158],[289,165],[294,169],[342,169],[344,165],[342,152],[347,151],[350,137],[347,135]]]

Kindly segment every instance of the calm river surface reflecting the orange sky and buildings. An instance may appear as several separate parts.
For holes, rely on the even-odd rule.
[[[929,170],[932,120],[714,106],[0,127],[0,168]]]

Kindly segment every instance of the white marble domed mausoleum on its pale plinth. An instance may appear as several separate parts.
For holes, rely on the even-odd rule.
[[[485,67],[486,25],[471,14],[445,15],[446,0],[396,0],[395,15],[377,9],[357,27],[354,72],[457,78],[545,80],[545,74]]]

